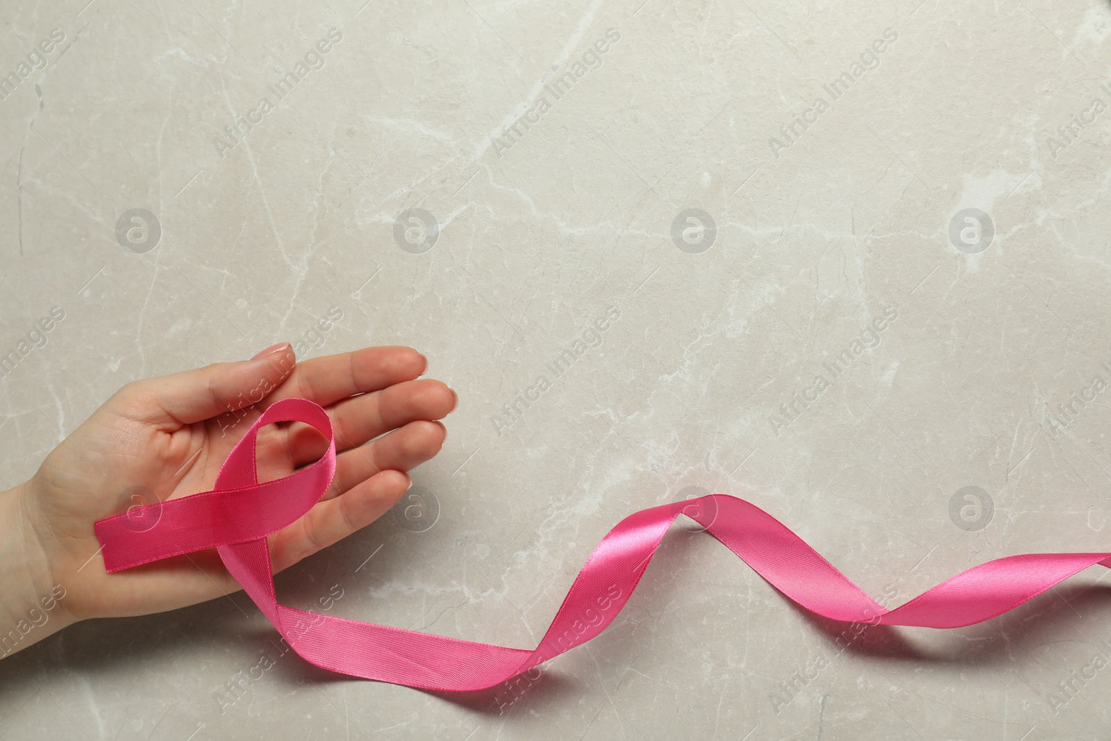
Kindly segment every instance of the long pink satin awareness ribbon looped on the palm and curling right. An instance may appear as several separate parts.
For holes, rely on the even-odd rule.
[[[291,475],[258,483],[258,430],[284,421],[314,427],[328,438],[328,451]],[[533,650],[511,649],[279,604],[267,535],[308,512],[334,472],[336,442],[328,413],[307,399],[278,401],[232,449],[212,491],[99,520],[94,529],[103,545],[104,568],[120,571],[216,548],[231,575],[309,662],[353,677],[441,691],[493,687],[601,633],[629,600],[680,513],[788,599],[845,622],[961,628],[1007,612],[1090,565],[1111,568],[1111,553],[1010,555],[963,571],[888,610],[772,515],[729,494],[708,494],[641,510],[619,522],[587,559],[540,644]],[[137,527],[151,518],[158,518],[154,527]]]

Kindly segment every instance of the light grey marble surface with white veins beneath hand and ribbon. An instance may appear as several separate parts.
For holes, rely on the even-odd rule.
[[[4,487],[130,380],[403,343],[460,394],[438,519],[288,604],[532,648],[692,487],[891,605],[1111,545],[1107,0],[87,2],[0,13]],[[1107,739],[1108,597],[839,643],[677,524],[520,697],[328,674],[239,593],[3,660],[0,738]]]

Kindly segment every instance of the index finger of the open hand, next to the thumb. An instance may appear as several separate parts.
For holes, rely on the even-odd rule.
[[[357,393],[411,381],[428,369],[428,358],[412,348],[363,348],[298,363],[289,380],[267,399],[301,397],[329,407]]]

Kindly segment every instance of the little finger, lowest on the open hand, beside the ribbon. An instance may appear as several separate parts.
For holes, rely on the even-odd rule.
[[[317,502],[311,510],[271,538],[274,571],[347,538],[398,503],[412,480],[400,471],[382,471],[342,497]]]

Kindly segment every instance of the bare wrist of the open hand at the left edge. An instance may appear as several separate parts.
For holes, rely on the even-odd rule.
[[[27,488],[0,492],[0,659],[76,622],[29,524]]]

